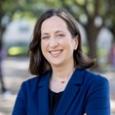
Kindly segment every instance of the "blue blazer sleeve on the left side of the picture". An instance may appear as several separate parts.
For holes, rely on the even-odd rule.
[[[27,102],[26,86],[24,83],[22,83],[14,104],[12,115],[27,115],[26,102]]]

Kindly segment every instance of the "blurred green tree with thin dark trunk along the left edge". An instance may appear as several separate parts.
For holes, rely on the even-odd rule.
[[[16,13],[21,12],[22,16],[24,16],[27,12],[32,14],[36,10],[30,4],[29,0],[0,0],[0,83],[3,93],[6,91],[1,67],[3,34]]]

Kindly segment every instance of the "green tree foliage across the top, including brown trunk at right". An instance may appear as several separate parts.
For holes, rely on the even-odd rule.
[[[63,7],[85,28],[89,46],[88,54],[96,58],[96,41],[100,29],[106,26],[115,34],[114,6],[115,0],[1,0],[0,32],[4,16],[8,16],[9,21],[17,13],[22,16],[28,14],[30,17],[38,17],[46,9]]]

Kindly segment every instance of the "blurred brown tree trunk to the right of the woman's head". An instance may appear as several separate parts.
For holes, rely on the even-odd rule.
[[[97,35],[99,33],[99,28],[94,25],[94,20],[90,20],[86,26],[87,33],[87,44],[88,44],[88,56],[92,59],[96,59],[96,64],[94,69],[100,69],[98,64],[97,55]]]

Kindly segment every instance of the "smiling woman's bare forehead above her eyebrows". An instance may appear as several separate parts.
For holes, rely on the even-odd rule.
[[[58,16],[46,19],[41,26],[41,32],[67,31],[66,22]]]

